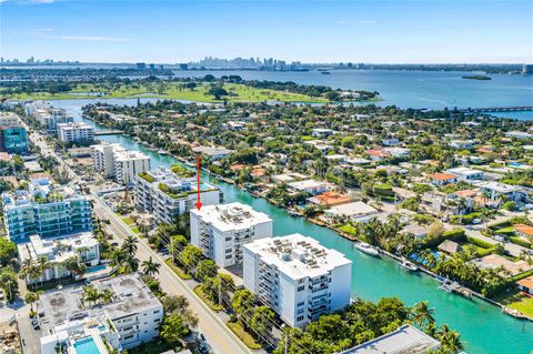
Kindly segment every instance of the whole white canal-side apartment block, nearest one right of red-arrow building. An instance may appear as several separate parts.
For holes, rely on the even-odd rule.
[[[301,234],[244,245],[244,286],[291,326],[350,304],[352,261]]]

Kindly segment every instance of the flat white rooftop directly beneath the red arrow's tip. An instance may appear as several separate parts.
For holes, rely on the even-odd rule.
[[[255,224],[272,222],[265,213],[253,210],[250,205],[229,203],[205,205],[201,210],[193,209],[191,213],[221,231],[249,229]]]

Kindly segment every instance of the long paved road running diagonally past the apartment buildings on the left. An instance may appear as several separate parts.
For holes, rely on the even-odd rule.
[[[39,139],[40,138],[40,139]],[[64,161],[50,149],[44,139],[39,133],[30,135],[33,143],[40,146],[42,154],[53,155],[60,161],[61,165],[67,170],[74,182],[80,182],[81,179],[77,175]],[[125,225],[117,215],[105,205],[100,198],[91,194],[90,199],[94,201],[93,210],[97,216],[110,220],[109,229],[114,236],[120,241],[128,235],[132,235],[130,227]],[[205,335],[209,344],[217,354],[250,354],[250,351],[231,330],[200,300],[194,292],[187,286],[165,263],[164,260],[143,240],[139,239],[139,250],[137,256],[142,262],[150,256],[152,260],[161,263],[158,279],[161,281],[161,287],[169,294],[183,295],[189,300],[192,310],[198,314],[199,323],[198,330]],[[38,353],[38,352],[34,352]]]

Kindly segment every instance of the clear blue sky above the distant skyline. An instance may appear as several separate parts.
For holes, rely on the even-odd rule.
[[[533,62],[533,1],[0,0],[3,58]]]

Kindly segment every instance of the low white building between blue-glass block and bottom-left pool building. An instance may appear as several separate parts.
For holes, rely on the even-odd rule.
[[[87,266],[100,263],[100,247],[91,232],[57,239],[41,239],[39,235],[33,235],[30,236],[30,242],[18,244],[18,249],[21,264],[27,260],[37,263],[41,257],[47,259],[51,264],[41,277],[27,277],[28,284],[70,276],[69,270],[62,266],[62,263],[71,257],[76,257]]]

